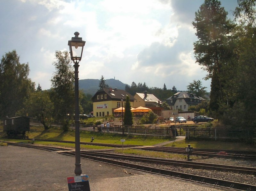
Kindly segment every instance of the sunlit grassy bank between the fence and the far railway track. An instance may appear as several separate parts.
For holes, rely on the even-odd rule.
[[[10,139],[5,138],[5,136],[6,135],[3,133],[3,126],[0,125],[1,141],[10,141]],[[30,127],[30,132],[26,133],[26,136],[28,136],[29,138],[35,138],[35,139],[75,141],[75,131],[74,130],[69,130],[67,132],[63,132],[59,128],[51,128],[51,129],[44,130],[44,128],[40,127],[40,126]],[[124,144],[148,145],[148,146],[173,140],[172,138],[144,137],[144,136],[122,136],[119,134],[107,134],[107,133],[81,131],[80,132],[80,141],[81,142],[91,142],[92,136],[94,137],[93,143],[122,144],[120,139],[125,139]],[[17,142],[20,142],[20,140],[17,140]],[[35,143],[74,148],[74,144],[39,142],[39,141],[36,141]],[[174,143],[171,143],[171,144],[168,144],[165,146],[184,147],[185,148],[188,146],[188,144],[190,144],[191,147],[193,147],[193,148],[236,150],[236,151],[256,151],[255,145],[246,144],[246,143],[237,143],[237,142],[222,142],[222,141],[201,141],[201,140],[186,141],[186,140],[183,140],[183,141],[174,142]],[[81,149],[106,149],[106,148],[109,148],[109,147],[81,145]],[[134,152],[134,151],[132,151],[132,152]]]

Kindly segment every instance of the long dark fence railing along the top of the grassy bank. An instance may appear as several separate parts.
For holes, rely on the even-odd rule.
[[[31,121],[32,123],[39,123],[38,121]],[[59,127],[58,124],[52,124],[52,127]],[[75,125],[71,125],[70,129],[75,129]],[[161,137],[175,137],[186,136],[186,139],[212,139],[212,140],[256,140],[256,130],[247,129],[225,129],[225,128],[197,128],[197,127],[177,127],[171,129],[169,127],[144,127],[144,126],[126,126],[124,129],[121,125],[111,124],[110,128],[106,126],[93,125],[92,122],[80,124],[80,130],[84,131],[98,131],[109,132],[114,134],[124,135],[138,135],[138,136],[161,136]]]

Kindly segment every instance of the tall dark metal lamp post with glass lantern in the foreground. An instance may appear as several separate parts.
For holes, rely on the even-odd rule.
[[[75,32],[75,37],[68,40],[69,52],[71,60],[74,62],[75,68],[75,151],[76,151],[76,163],[75,174],[80,176],[82,174],[81,160],[80,160],[80,132],[79,132],[79,88],[78,88],[78,67],[79,62],[82,59],[83,49],[85,41],[82,40],[78,32]]]

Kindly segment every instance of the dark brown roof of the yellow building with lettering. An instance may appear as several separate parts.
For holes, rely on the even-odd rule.
[[[134,97],[126,92],[125,90],[118,90],[117,88],[113,89],[113,88],[102,88],[100,90],[98,90],[94,96],[92,96],[92,99],[101,94],[101,93],[106,93],[108,94],[108,96],[111,98],[111,99],[121,99],[123,98],[124,100],[126,99],[126,96],[128,95],[130,100],[134,100]]]

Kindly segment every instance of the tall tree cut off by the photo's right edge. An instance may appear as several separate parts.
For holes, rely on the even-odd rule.
[[[232,110],[228,110],[228,115],[232,117],[234,125],[241,126],[246,122],[248,129],[255,130],[256,2],[255,0],[237,2],[239,6],[234,15],[240,24],[236,30],[236,35],[239,36],[236,51],[239,56],[234,82],[236,86],[232,89],[234,105]]]

